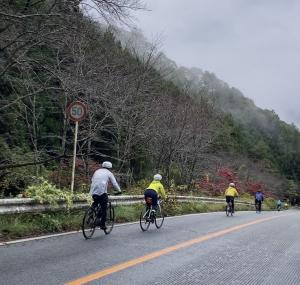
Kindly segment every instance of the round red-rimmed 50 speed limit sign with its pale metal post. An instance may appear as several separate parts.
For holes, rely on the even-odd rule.
[[[87,114],[85,104],[80,101],[72,102],[67,109],[69,118],[75,122],[75,135],[74,135],[74,150],[73,150],[73,165],[72,165],[72,180],[71,180],[71,193],[74,192],[75,181],[75,165],[76,165],[76,152],[77,152],[77,137],[78,137],[78,122],[83,120]]]

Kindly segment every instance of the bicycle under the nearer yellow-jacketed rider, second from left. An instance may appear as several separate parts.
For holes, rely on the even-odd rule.
[[[146,198],[145,207],[142,209],[140,214],[140,227],[143,232],[147,231],[150,224],[155,224],[157,229],[160,229],[163,225],[165,216],[161,208],[160,200],[157,201],[156,210],[152,206],[152,198]]]

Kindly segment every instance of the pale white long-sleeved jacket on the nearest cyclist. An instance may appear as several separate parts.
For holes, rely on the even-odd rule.
[[[96,170],[92,177],[90,194],[101,196],[102,194],[107,193],[107,186],[109,182],[112,183],[116,190],[121,191],[116,178],[108,169],[101,168]]]

